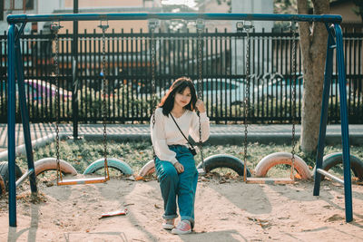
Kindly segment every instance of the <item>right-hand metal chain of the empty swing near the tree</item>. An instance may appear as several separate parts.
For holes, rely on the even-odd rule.
[[[294,179],[294,171],[295,171],[295,146],[296,146],[296,139],[295,139],[295,124],[296,124],[296,23],[291,23],[291,30],[292,30],[292,150],[291,150],[291,172],[290,178]]]

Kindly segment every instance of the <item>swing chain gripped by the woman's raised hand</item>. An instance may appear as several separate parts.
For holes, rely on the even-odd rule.
[[[201,21],[201,20],[200,20]],[[203,98],[203,92],[202,92],[202,74],[203,74],[203,69],[202,69],[202,52],[201,52],[201,32],[202,32],[202,27],[201,25],[197,26],[198,29],[198,99]],[[203,170],[205,171],[205,164],[204,164],[204,157],[203,157],[203,145],[202,145],[202,140],[201,140],[201,113],[198,111],[198,119],[199,119],[199,142],[198,142],[198,147],[199,150],[201,151],[201,167],[203,168]]]

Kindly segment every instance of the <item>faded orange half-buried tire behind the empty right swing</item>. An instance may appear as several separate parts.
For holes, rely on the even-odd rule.
[[[291,166],[292,164],[291,158],[292,155],[291,153],[288,152],[276,152],[264,157],[262,160],[260,160],[259,164],[257,164],[255,168],[256,177],[260,178],[266,177],[269,169],[271,169],[276,165],[286,164]],[[295,155],[294,158],[295,158],[294,169],[298,171],[301,179],[310,179],[311,172],[306,162],[301,158],[299,158],[299,156],[297,155]]]

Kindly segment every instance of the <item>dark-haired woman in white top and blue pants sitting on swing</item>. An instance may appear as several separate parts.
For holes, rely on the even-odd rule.
[[[172,229],[173,234],[188,234],[194,227],[198,171],[186,138],[191,135],[193,140],[200,140],[196,110],[200,111],[201,116],[201,140],[208,140],[210,121],[204,103],[197,100],[191,79],[181,77],[172,83],[155,110],[155,124],[151,121],[155,169],[164,201],[162,227]],[[174,220],[178,217],[177,198],[181,221],[174,227]]]

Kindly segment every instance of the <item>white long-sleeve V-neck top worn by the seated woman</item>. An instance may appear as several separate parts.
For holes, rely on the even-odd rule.
[[[201,112],[201,140],[204,142],[210,137],[210,119],[206,112]],[[199,117],[195,111],[186,110],[180,118],[175,118],[185,137],[191,135],[191,139],[200,140],[199,134]],[[162,114],[162,108],[155,110],[155,125],[152,128],[152,119],[150,121],[152,135],[152,146],[156,156],[160,160],[166,160],[175,164],[176,153],[169,149],[168,145],[185,145],[188,141],[182,136],[175,122],[172,121],[171,115]]]

